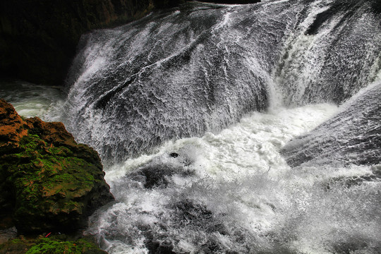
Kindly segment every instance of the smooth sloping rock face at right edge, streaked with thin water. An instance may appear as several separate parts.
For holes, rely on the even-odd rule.
[[[337,116],[291,140],[281,151],[287,163],[291,167],[380,164],[380,96],[378,81],[341,106]]]

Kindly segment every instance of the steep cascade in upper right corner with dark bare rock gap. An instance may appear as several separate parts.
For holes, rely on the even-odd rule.
[[[341,104],[377,78],[381,24],[376,3],[315,1],[310,5],[306,18],[287,37],[274,68],[285,104]]]

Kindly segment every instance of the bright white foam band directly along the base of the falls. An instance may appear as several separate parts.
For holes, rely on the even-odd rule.
[[[153,155],[128,159],[122,165],[107,170],[107,181],[113,181],[152,158],[171,152],[186,154],[194,161],[200,176],[236,179],[248,174],[269,171],[277,176],[288,166],[279,149],[291,138],[310,131],[332,116],[337,107],[332,104],[308,105],[294,109],[273,109],[254,112],[220,133],[206,133],[202,138],[169,141]]]

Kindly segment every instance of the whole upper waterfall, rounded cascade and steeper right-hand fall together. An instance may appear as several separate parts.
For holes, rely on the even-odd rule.
[[[337,3],[193,3],[92,32],[66,126],[112,163],[272,105],[340,104],[375,80],[381,29],[371,1]]]

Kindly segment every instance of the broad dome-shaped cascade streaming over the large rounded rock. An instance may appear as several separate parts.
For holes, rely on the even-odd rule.
[[[69,78],[68,128],[116,162],[266,109],[297,11],[192,4],[88,35]]]

